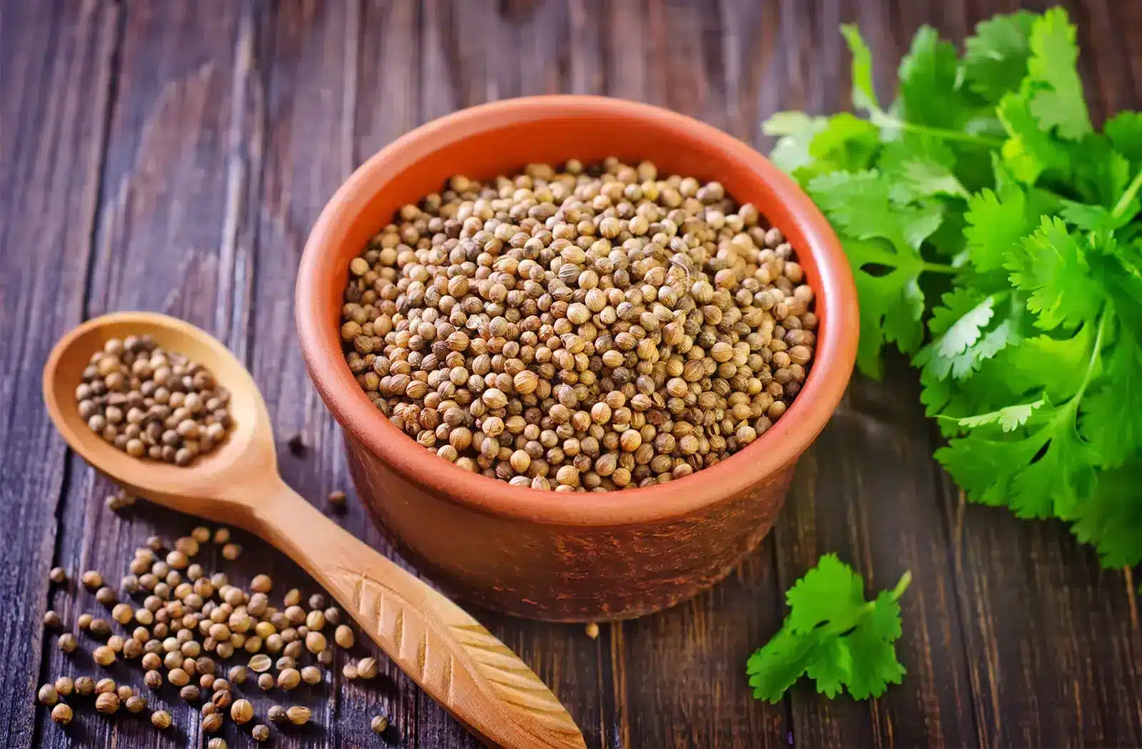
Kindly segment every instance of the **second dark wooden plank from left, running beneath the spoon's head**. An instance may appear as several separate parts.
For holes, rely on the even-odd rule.
[[[121,46],[85,314],[167,312],[241,354],[254,259],[248,208],[257,200],[262,151],[250,99],[266,57],[260,31],[267,6],[220,3],[201,13],[186,3],[140,1],[118,9]],[[115,515],[103,506],[108,482],[74,456],[69,466],[73,480],[59,513],[57,563],[73,575],[97,569],[118,587],[131,549],[147,535],[174,539],[196,525],[145,504]],[[217,549],[201,557],[208,570],[218,569]],[[56,606],[71,627],[85,611],[107,617],[93,594],[74,583],[57,595]],[[73,657],[48,651],[46,676],[100,675],[89,657],[95,641],[80,639]],[[159,734],[146,716],[107,719],[77,703],[67,732],[40,710],[38,746],[199,746],[196,706],[170,687],[151,693],[137,665],[119,662],[106,675],[139,688],[152,709],[169,709],[172,730]]]

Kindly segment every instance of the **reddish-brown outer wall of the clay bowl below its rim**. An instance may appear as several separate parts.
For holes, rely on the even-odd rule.
[[[352,436],[346,446],[361,501],[417,570],[480,606],[547,621],[641,617],[713,586],[770,531],[794,470],[681,517],[569,526],[476,510],[409,481]]]

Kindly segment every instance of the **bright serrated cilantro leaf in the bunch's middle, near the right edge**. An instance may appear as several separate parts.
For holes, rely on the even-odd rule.
[[[1044,330],[1077,325],[1099,311],[1100,289],[1087,275],[1083,249],[1062,219],[1044,217],[1035,234],[1008,253],[1006,267],[1011,282],[1030,292],[1027,308],[1038,313],[1036,324]]]

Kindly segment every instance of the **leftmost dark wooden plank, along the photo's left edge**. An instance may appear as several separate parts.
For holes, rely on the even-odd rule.
[[[65,446],[43,411],[40,368],[82,315],[115,46],[104,2],[11,3],[0,23],[0,732],[35,739]]]

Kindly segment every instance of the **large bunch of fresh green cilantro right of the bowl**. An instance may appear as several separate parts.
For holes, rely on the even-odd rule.
[[[911,357],[968,500],[1142,563],[1142,113],[1094,129],[1060,8],[984,21],[963,55],[922,27],[887,106],[842,33],[861,116],[764,129],[849,255],[860,369]]]

